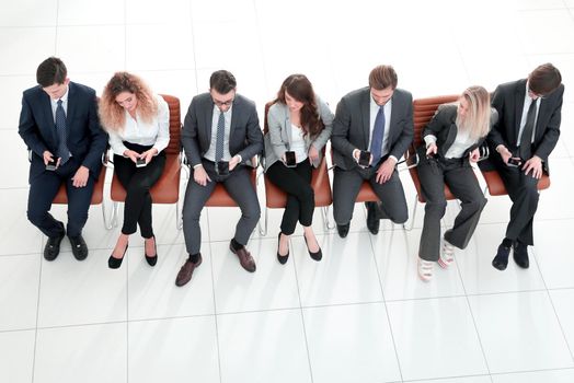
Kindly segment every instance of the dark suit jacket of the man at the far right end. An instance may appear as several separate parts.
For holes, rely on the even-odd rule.
[[[500,154],[495,151],[500,144],[504,144],[508,150],[513,150],[516,147],[525,95],[526,79],[498,85],[494,91],[492,106],[498,112],[498,123],[494,125],[486,139],[491,150],[490,159],[492,156],[495,156],[494,160],[500,159]],[[546,172],[548,172],[548,156],[556,146],[560,137],[563,95],[564,85],[561,84],[548,97],[540,100],[540,108],[535,127],[535,140],[532,142],[532,155],[538,155],[542,159]],[[483,170],[492,169],[492,163],[485,162],[481,165]]]

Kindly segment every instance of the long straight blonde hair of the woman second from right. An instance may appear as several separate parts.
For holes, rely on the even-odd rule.
[[[470,86],[460,97],[469,103],[469,109],[464,117],[457,113],[457,127],[467,130],[474,140],[485,137],[491,130],[490,93],[482,86]]]

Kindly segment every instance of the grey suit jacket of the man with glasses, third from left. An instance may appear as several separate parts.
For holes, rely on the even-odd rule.
[[[190,165],[202,163],[202,158],[211,143],[211,118],[214,101],[209,93],[193,97],[182,131],[182,143]],[[243,164],[263,151],[263,134],[260,128],[255,104],[241,95],[236,95],[231,113],[229,153],[241,155]]]

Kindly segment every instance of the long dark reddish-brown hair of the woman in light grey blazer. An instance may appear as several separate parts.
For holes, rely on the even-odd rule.
[[[282,84],[275,103],[280,102],[287,104],[285,101],[285,92],[289,93],[291,97],[300,103],[301,107],[301,129],[303,134],[315,138],[324,129],[324,124],[319,116],[319,108],[314,97],[313,86],[305,74],[291,74]]]

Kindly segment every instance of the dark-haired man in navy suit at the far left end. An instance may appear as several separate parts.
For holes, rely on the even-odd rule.
[[[44,60],[38,85],[24,91],[19,134],[31,150],[27,218],[48,236],[44,258],[54,260],[66,233],[76,259],[88,256],[82,229],[100,175],[107,135],[97,118],[95,91],[71,82],[64,62]],[[68,224],[48,211],[61,183],[68,195]]]

